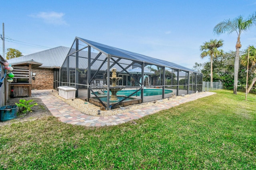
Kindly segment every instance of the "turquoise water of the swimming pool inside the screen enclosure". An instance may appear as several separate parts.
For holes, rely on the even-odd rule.
[[[116,94],[121,96],[129,96],[130,94],[132,94],[133,92],[136,92],[136,90],[120,90],[118,91]],[[137,93],[133,94],[132,96],[140,96],[140,92],[138,91]],[[105,96],[107,94],[107,91],[104,91],[105,94],[99,94],[98,92],[96,92],[96,94],[98,96]],[[155,95],[162,95],[163,91],[162,89],[144,89],[143,90],[143,96],[155,96]],[[164,90],[164,94],[168,94],[168,93],[172,93],[172,90]],[[110,92],[111,94],[111,92]]]

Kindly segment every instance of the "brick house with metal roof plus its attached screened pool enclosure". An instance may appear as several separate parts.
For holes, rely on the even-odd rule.
[[[161,70],[160,75],[156,77],[157,80],[154,80],[154,76],[151,76],[153,77],[151,82],[153,82],[154,86],[157,85],[158,88],[162,88],[162,92],[165,88],[173,89],[178,96],[179,91],[182,94],[190,94],[197,90],[202,90],[202,73],[200,72],[169,61],[111,47],[80,37],[75,37],[71,48],[60,46],[10,59],[8,62],[14,68],[14,81],[10,83],[10,95],[14,97],[30,96],[32,89],[57,90],[58,86],[70,86],[77,89],[76,97],[83,97],[89,100],[91,93],[95,95],[94,89],[98,89],[100,86],[107,86],[107,91],[110,91],[109,85],[111,82],[109,77],[111,76],[111,68],[114,67],[118,74],[127,73],[127,75],[123,76],[120,74],[123,78],[122,82],[120,82],[121,85],[126,86],[126,88],[136,87],[136,89],[139,88],[138,90],[141,90],[142,102],[144,86],[150,88],[152,83],[149,83],[150,80],[144,83],[146,81],[144,78],[140,82],[140,78],[136,78],[128,72],[129,69],[134,67],[143,68],[141,75],[144,75],[147,66],[159,68]],[[169,72],[171,72],[170,76],[167,75]],[[182,74],[183,72],[184,75]],[[179,84],[179,80],[182,79],[189,83]],[[134,80],[136,83],[128,83],[130,80]],[[162,98],[165,98],[164,93],[162,93]],[[107,102],[106,108],[109,109],[109,101]]]

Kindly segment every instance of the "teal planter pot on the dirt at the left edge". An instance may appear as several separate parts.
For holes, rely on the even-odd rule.
[[[17,106],[8,105],[0,107],[0,121],[8,121],[17,117]]]

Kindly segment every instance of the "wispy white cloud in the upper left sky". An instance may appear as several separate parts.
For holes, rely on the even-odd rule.
[[[50,23],[54,25],[68,25],[63,19],[65,14],[60,12],[39,12],[38,14],[32,14],[30,17],[41,18],[45,23]]]

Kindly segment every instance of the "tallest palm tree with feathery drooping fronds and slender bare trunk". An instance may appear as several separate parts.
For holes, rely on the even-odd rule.
[[[234,62],[234,94],[237,94],[237,84],[238,84],[238,69],[239,69],[239,51],[242,47],[240,43],[240,35],[243,31],[248,31],[252,25],[256,24],[256,12],[250,15],[248,18],[244,19],[242,16],[238,16],[233,20],[224,20],[218,23],[213,31],[215,34],[220,35],[222,33],[231,34],[233,32],[237,33],[236,41],[236,55]]]

